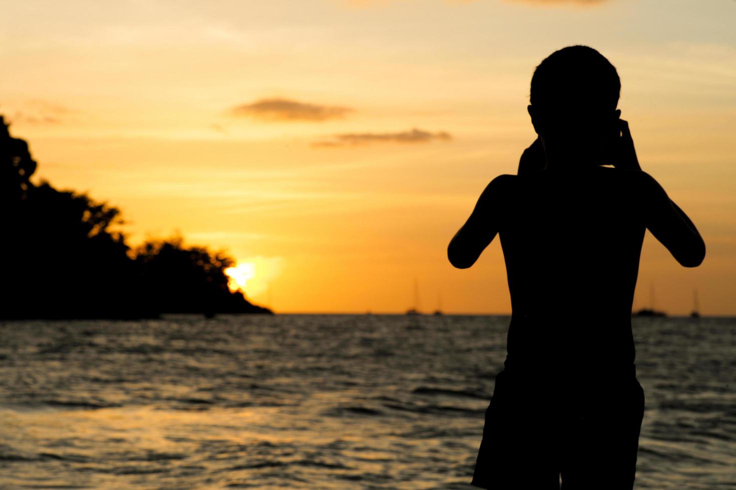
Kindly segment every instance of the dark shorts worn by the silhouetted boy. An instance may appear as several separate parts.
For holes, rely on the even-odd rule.
[[[473,485],[559,489],[562,477],[563,490],[632,489],[644,392],[634,367],[625,371],[574,383],[501,371]]]

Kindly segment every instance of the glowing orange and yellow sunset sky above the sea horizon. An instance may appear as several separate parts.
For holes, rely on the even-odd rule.
[[[456,270],[447,242],[536,136],[534,67],[586,44],[707,244],[686,269],[648,235],[635,306],[736,314],[735,27],[733,0],[12,1],[0,114],[37,181],[132,244],[226,248],[275,311],[404,311],[417,281],[425,311],[507,313],[500,244]]]

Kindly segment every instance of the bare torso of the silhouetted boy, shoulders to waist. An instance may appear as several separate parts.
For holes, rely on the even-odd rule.
[[[598,167],[506,182],[509,357],[547,366],[633,363],[631,303],[645,224],[631,173]]]

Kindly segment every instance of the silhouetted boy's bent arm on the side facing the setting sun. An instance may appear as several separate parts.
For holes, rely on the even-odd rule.
[[[458,230],[447,247],[447,258],[459,269],[475,264],[478,257],[498,234],[501,206],[506,199],[508,179],[502,175],[493,179],[478,198],[473,213]]]

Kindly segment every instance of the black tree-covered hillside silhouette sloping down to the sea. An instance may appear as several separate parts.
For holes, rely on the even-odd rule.
[[[230,292],[234,260],[175,237],[133,250],[120,209],[31,182],[38,165],[0,116],[0,318],[271,313]]]

